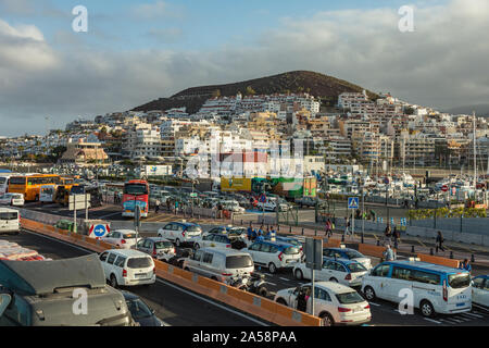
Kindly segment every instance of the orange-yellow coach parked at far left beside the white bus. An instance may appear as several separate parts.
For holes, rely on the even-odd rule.
[[[60,175],[55,174],[12,176],[9,181],[9,192],[22,194],[26,201],[38,201],[42,185],[58,185],[60,181]]]

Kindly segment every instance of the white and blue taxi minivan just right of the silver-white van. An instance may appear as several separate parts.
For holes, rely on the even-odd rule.
[[[269,273],[276,273],[279,269],[293,268],[302,257],[296,246],[268,240],[256,240],[241,251],[251,254],[255,264],[268,268]]]

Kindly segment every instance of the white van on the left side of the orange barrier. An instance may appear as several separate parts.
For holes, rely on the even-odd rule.
[[[100,257],[105,279],[112,287],[150,285],[156,282],[156,269],[153,259],[141,251],[131,249],[112,249]]]

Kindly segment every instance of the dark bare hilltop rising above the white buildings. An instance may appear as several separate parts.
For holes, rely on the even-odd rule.
[[[168,110],[187,107],[187,112],[199,111],[206,99],[221,95],[223,97],[242,95],[273,95],[286,92],[308,92],[319,98],[324,105],[333,105],[338,96],[344,91],[361,92],[363,87],[338,79],[328,75],[308,71],[296,71],[284,74],[249,79],[226,85],[212,85],[187,88],[170,98],[160,98],[137,107],[134,111]],[[378,96],[367,90],[368,97],[377,99]]]

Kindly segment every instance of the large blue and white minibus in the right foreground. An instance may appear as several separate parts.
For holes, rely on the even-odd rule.
[[[400,303],[409,289],[413,295],[412,306],[427,318],[472,310],[471,274],[467,271],[417,260],[387,261],[371,270],[362,278],[365,298]]]

